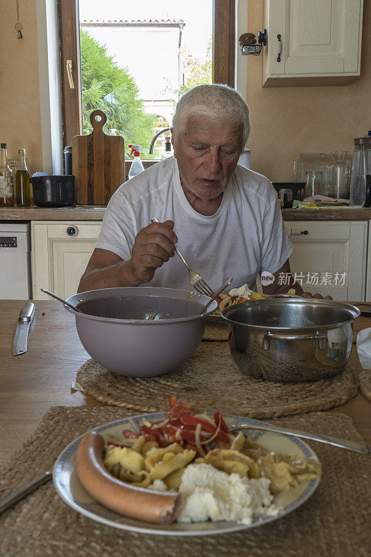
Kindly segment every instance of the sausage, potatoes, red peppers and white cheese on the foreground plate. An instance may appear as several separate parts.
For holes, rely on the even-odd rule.
[[[102,457],[103,454],[103,457]],[[77,451],[83,487],[123,515],[160,524],[277,515],[277,493],[320,476],[318,462],[283,456],[232,434],[220,412],[197,414],[170,398],[160,421],[122,438],[88,432]]]

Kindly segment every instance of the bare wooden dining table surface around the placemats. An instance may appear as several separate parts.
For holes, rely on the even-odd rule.
[[[0,466],[24,444],[49,407],[101,406],[72,389],[77,371],[90,356],[76,333],[74,316],[59,302],[33,302],[35,317],[27,352],[12,355],[15,326],[25,302],[0,300]],[[371,327],[371,319],[358,317],[354,333],[366,327]],[[361,372],[355,344],[349,366]],[[361,393],[331,411],[350,416],[356,430],[371,444],[371,402]]]

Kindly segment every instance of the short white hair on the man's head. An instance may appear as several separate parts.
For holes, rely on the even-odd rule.
[[[240,93],[227,85],[199,85],[192,88],[176,104],[172,118],[172,136],[177,143],[186,131],[192,116],[209,116],[215,120],[230,120],[242,127],[243,146],[250,133],[249,107]]]

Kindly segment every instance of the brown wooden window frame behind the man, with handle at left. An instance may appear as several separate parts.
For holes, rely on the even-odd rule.
[[[79,0],[57,0],[57,5],[63,145],[71,145],[72,137],[83,133]],[[235,10],[236,0],[213,0],[213,83],[231,87],[235,86]],[[70,74],[67,60],[72,62]],[[126,171],[129,168],[130,164]]]

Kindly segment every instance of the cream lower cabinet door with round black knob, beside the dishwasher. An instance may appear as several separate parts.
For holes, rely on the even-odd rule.
[[[76,294],[100,229],[96,221],[31,223],[34,299],[50,299],[40,288],[64,299]]]

